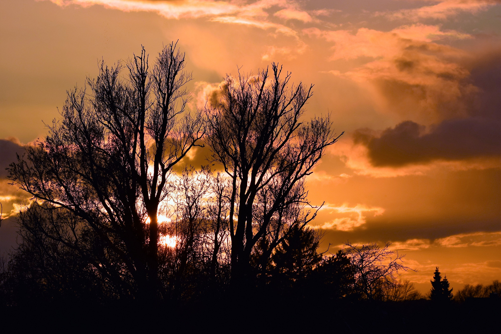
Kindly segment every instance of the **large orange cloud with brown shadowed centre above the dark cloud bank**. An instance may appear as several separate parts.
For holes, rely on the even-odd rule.
[[[461,64],[468,54],[436,43],[469,39],[470,35],[422,24],[389,32],[310,28],[304,33],[334,43],[331,61],[363,62],[346,72],[326,72],[357,83],[383,114],[392,113],[427,125],[463,117],[467,114],[463,100],[477,91],[466,80],[469,71]]]

